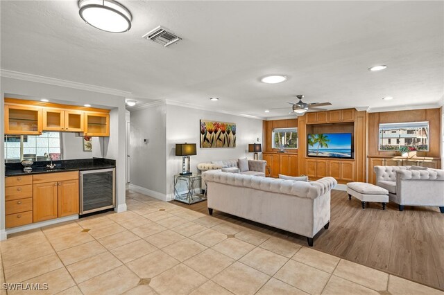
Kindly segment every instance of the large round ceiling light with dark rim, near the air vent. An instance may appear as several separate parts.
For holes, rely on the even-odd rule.
[[[123,33],[131,28],[131,13],[113,0],[80,0],[78,14],[89,25],[110,33]]]

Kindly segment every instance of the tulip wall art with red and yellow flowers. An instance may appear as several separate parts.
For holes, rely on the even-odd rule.
[[[200,120],[200,147],[236,147],[236,124]]]

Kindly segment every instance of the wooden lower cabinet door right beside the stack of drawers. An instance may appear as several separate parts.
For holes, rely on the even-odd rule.
[[[34,184],[33,215],[34,222],[57,218],[57,181],[44,184]]]

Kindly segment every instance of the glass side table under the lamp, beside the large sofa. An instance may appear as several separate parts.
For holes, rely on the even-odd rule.
[[[196,193],[201,181],[202,176],[197,174],[174,175],[174,199],[185,204],[205,201],[206,195]]]

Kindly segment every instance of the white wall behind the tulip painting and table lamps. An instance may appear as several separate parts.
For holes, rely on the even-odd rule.
[[[236,123],[236,147],[200,148],[200,119]],[[191,156],[191,172],[197,172],[197,164],[248,157],[248,143],[262,143],[262,120],[167,105],[167,196],[173,193],[173,177],[181,172],[182,159],[176,157],[176,143],[196,143],[197,155]]]

